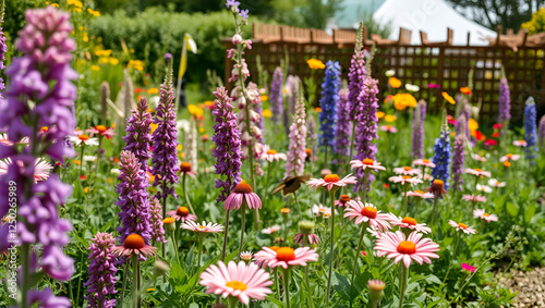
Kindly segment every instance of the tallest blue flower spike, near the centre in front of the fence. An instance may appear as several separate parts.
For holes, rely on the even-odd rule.
[[[319,147],[334,147],[335,126],[337,121],[337,100],[339,100],[340,86],[340,65],[339,62],[331,60],[326,63],[326,76],[322,84],[322,98],[319,104],[322,112],[319,113]]]

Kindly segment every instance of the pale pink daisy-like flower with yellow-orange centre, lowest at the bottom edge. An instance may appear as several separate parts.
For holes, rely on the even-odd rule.
[[[211,264],[201,274],[199,284],[206,286],[207,294],[221,294],[223,298],[232,296],[244,305],[250,304],[250,298],[265,299],[272,293],[268,287],[272,284],[270,274],[254,263],[243,261],[239,264],[233,261],[227,266],[222,261]]]

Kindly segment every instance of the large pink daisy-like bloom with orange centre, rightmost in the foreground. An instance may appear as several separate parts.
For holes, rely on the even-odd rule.
[[[398,263],[403,260],[405,268],[411,266],[412,261],[419,264],[423,262],[432,263],[429,258],[439,258],[435,251],[439,251],[439,245],[432,242],[429,238],[422,239],[422,233],[416,231],[405,235],[401,231],[388,232],[380,236],[376,242],[375,249],[378,250],[377,255],[383,257],[386,255],[388,258],[395,258],[393,262]]]

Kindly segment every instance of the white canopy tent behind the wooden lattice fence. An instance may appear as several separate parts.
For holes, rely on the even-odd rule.
[[[427,34],[429,41],[446,41],[447,28],[453,30],[452,45],[488,45],[486,37],[496,33],[470,21],[444,0],[387,0],[373,14],[378,23],[391,25],[391,39],[398,39],[400,27],[412,30],[411,44],[420,45],[420,32]]]

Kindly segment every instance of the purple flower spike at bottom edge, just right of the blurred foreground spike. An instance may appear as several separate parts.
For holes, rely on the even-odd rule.
[[[116,247],[116,238],[111,233],[97,232],[90,239],[89,246],[89,268],[87,273],[89,280],[84,284],[87,287],[87,308],[111,308],[116,307],[116,298],[109,299],[109,295],[117,294],[116,255],[112,248]]]

